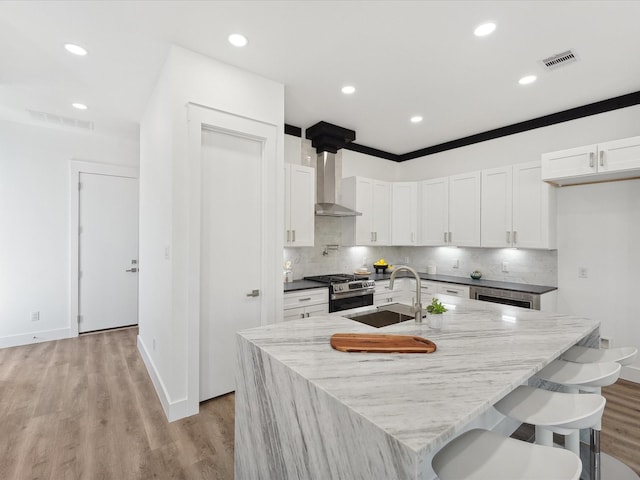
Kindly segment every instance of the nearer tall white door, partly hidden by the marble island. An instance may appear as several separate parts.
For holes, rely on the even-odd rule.
[[[260,325],[262,152],[202,131],[200,401],[235,390],[235,334]]]

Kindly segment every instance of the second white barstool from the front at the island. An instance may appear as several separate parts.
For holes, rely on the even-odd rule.
[[[507,417],[534,425],[539,445],[552,447],[554,433],[565,435],[565,448],[579,456],[580,429],[599,425],[606,403],[602,395],[552,392],[521,385],[494,407]]]

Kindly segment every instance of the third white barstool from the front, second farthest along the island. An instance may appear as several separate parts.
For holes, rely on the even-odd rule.
[[[601,387],[614,384],[620,376],[622,366],[617,362],[574,363],[554,360],[540,370],[536,376],[548,382],[563,385],[570,393],[580,391],[600,394]],[[589,429],[589,475],[591,480],[600,480],[600,430],[601,422]],[[580,446],[579,432],[567,436],[570,445]]]

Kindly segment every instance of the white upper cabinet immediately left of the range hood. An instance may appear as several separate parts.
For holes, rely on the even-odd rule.
[[[285,165],[285,232],[287,247],[313,247],[315,228],[315,169]]]

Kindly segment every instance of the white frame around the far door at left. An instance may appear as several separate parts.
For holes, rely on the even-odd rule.
[[[79,335],[80,269],[80,174],[110,175],[138,179],[138,167],[72,159],[69,163],[69,336]]]

